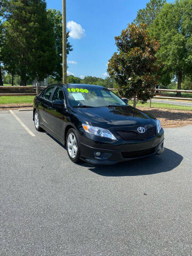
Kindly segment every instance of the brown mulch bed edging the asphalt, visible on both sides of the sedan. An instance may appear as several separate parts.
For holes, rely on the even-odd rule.
[[[0,110],[10,109],[29,109],[33,105],[30,103],[23,104],[5,104],[0,105]],[[192,111],[190,110],[175,110],[166,108],[138,108],[142,111],[148,111],[148,113],[154,115],[161,120],[163,127],[177,127],[183,125],[192,124]]]

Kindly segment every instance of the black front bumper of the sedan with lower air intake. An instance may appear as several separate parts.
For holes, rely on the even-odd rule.
[[[88,142],[88,141],[87,141]],[[80,143],[81,159],[93,165],[110,165],[119,162],[130,161],[156,154],[162,154],[164,151],[164,132],[156,135],[155,138],[142,142],[118,143],[118,145],[108,145],[105,143],[93,142]],[[100,152],[101,156],[95,156],[96,152]]]

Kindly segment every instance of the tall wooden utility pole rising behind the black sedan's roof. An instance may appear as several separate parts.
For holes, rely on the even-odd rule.
[[[62,0],[62,62],[63,84],[67,85],[67,24],[66,24],[66,0]]]

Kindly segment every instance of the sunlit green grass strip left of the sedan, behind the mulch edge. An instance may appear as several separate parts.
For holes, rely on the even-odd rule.
[[[0,105],[12,103],[33,103],[35,96],[0,96]]]

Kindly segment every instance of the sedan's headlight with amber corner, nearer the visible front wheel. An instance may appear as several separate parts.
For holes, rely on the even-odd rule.
[[[107,129],[102,129],[100,127],[95,127],[88,124],[82,124],[82,125],[85,132],[88,132],[96,136],[109,138],[111,140],[116,140],[115,136]]]

